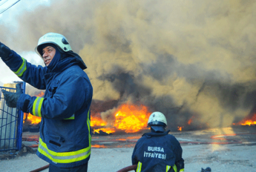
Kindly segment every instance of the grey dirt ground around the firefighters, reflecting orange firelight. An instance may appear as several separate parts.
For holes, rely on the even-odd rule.
[[[198,172],[210,167],[213,172],[256,171],[256,127],[227,127],[204,131],[175,132],[180,141],[185,171]],[[88,171],[118,171],[131,166],[134,145],[141,134],[93,136]],[[23,133],[23,138],[36,138],[38,133]],[[1,152],[0,171],[25,172],[48,163],[35,155],[35,141],[23,141],[20,152]],[[43,172],[48,171],[44,169]]]

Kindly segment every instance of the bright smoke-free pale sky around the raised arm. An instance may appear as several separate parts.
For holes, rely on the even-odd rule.
[[[0,6],[0,9],[6,9],[8,8],[9,5],[15,3],[16,1],[10,0],[10,1],[6,1],[4,0],[5,3],[3,3],[3,5]],[[4,2],[3,1],[3,2]],[[2,4],[0,2],[0,4]],[[16,4],[14,4],[12,7],[10,7],[8,10],[4,11],[3,13],[0,14],[0,25],[1,28],[4,28],[3,31],[1,31],[1,36],[5,35],[8,39],[8,37],[10,37],[12,34],[12,32],[17,31],[15,29],[15,27],[19,27],[19,19],[17,19],[17,17],[19,17],[19,15],[21,13],[26,13],[27,11],[33,11],[36,8],[39,8],[39,6],[48,6],[50,3],[48,0],[43,0],[43,1],[18,1]],[[6,31],[5,29],[10,29],[9,31]],[[4,31],[5,30],[5,31]],[[9,34],[10,33],[10,34]],[[1,39],[0,41],[4,44],[5,43],[5,39],[6,37],[4,36],[4,39]],[[2,38],[2,37],[1,37]],[[9,45],[7,45],[9,46]],[[14,49],[14,47],[12,48]],[[38,55],[35,53],[35,51],[33,51],[33,49],[31,50],[20,50],[19,55],[21,55],[22,57],[26,57],[26,59],[29,62],[32,62],[33,64],[36,65],[44,65],[44,62],[38,58]],[[3,83],[13,83],[14,81],[21,81],[20,78],[18,76],[16,76],[2,61],[2,59],[0,59],[0,86],[3,86]]]

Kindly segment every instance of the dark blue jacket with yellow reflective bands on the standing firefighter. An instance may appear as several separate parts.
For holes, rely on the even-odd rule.
[[[35,66],[13,52],[4,61],[24,82],[45,90],[44,97],[22,94],[17,108],[40,122],[38,157],[63,168],[80,166],[90,159],[90,104],[93,88],[81,57],[67,57],[50,71]]]

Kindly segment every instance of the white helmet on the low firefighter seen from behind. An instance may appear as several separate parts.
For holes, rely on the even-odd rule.
[[[148,127],[150,127],[151,125],[163,125],[164,127],[166,127],[167,120],[164,114],[159,111],[151,113],[150,117],[148,118]]]

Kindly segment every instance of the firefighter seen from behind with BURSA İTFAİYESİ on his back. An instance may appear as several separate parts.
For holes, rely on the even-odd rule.
[[[167,126],[163,113],[155,111],[148,118],[151,133],[145,133],[137,141],[132,153],[132,165],[136,171],[184,171],[182,148],[179,141],[165,131]]]

